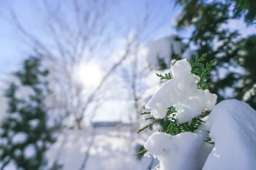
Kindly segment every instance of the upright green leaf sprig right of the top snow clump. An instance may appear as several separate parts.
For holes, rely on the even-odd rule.
[[[216,59],[213,59],[210,61],[210,63],[206,63],[206,67],[204,67],[204,64],[202,63],[205,60],[205,57],[207,54],[203,54],[201,57],[198,55],[195,57],[195,62],[192,61],[192,59],[189,60],[189,63],[192,67],[192,74],[196,74],[200,77],[200,80],[198,82],[198,87],[205,90],[209,86],[209,76],[211,75],[212,67],[214,66],[214,62]]]

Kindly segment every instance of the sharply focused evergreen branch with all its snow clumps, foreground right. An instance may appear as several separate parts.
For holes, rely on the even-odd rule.
[[[144,144],[142,153],[160,161],[155,170],[255,169],[256,111],[236,99],[215,105],[217,95],[207,89],[215,60],[204,66],[205,57],[173,61],[172,74],[157,75],[168,81],[145,105],[151,112],[142,114],[151,114],[152,122],[138,131],[170,120],[168,130],[154,132]]]

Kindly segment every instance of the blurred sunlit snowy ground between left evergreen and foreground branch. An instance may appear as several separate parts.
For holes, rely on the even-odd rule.
[[[139,139],[136,133],[131,136],[128,130],[117,131],[109,127],[96,128],[94,134],[93,139],[90,129],[67,130],[59,135],[47,153],[49,165],[58,158],[64,165],[63,170],[147,170],[153,159],[143,157],[139,160],[134,156],[136,145],[143,144],[148,135]],[[81,168],[86,157],[86,165]]]

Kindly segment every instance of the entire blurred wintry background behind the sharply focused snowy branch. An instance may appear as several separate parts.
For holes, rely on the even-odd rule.
[[[0,0],[0,169],[148,170],[144,105],[172,59],[217,58],[256,109],[254,0]],[[155,130],[165,130],[161,121]]]

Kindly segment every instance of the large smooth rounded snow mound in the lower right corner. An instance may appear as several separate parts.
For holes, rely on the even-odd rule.
[[[255,170],[256,111],[236,99],[220,102],[209,115],[207,129],[215,145],[203,170]]]

